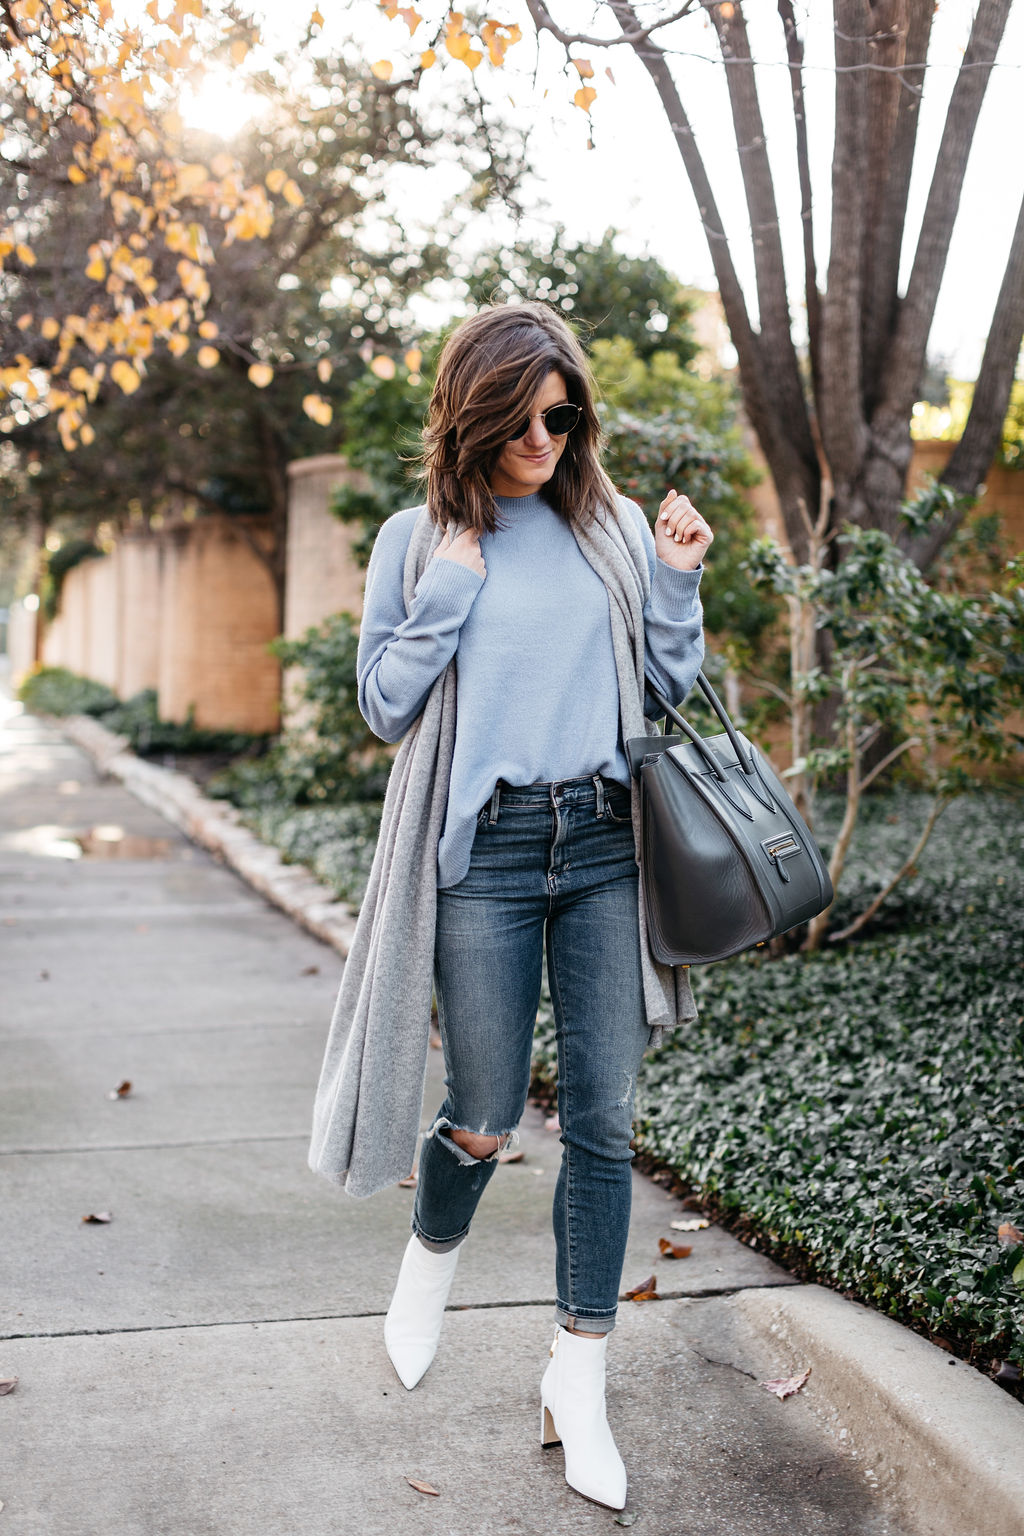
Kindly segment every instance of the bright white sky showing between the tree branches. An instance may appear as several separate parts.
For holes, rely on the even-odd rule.
[[[373,0],[321,0],[325,17],[327,45],[341,43],[356,29],[364,57],[395,60],[395,78],[401,78],[401,58],[410,55],[408,32],[402,22],[388,22],[376,11]],[[502,17],[516,18],[516,0],[504,6]],[[571,26],[573,14],[580,31],[608,31],[594,20],[594,9],[579,0],[554,6],[559,20]],[[269,29],[279,46],[295,35],[296,12],[292,6],[289,32],[281,11],[267,0]],[[427,11],[427,6],[424,6]],[[803,15],[801,15],[803,12]],[[970,32],[975,5],[969,0],[943,0],[936,8],[930,68],[926,77],[918,157],[910,190],[909,229],[917,233],[927,183],[935,164],[949,92],[956,77],[963,48]],[[304,14],[304,12],[302,12]],[[798,187],[792,138],[792,109],[785,54],[780,48],[781,28],[774,5],[754,0],[746,5],[751,45],[758,68],[758,89],[765,115],[769,157],[775,172],[775,190],[783,223],[789,286],[794,313],[803,313],[803,273],[800,253]],[[806,43],[804,89],[811,134],[812,180],[815,189],[815,241],[818,278],[824,281],[829,246],[829,178],[832,154],[832,97],[835,77],[832,60],[831,6],[811,0],[797,3],[801,34]],[[421,28],[416,51],[421,45]],[[622,232],[622,244],[629,252],[649,252],[686,284],[714,287],[714,272],[700,227],[692,192],[665,121],[660,103],[646,74],[625,48],[602,54],[577,48],[574,55],[588,57],[596,69],[597,101],[593,108],[594,147],[586,147],[588,120],[571,103],[579,86],[576,72],[563,72],[563,52],[553,38],[533,48],[528,25],[525,40],[508,54],[504,71],[481,65],[473,77],[462,65],[434,68],[424,75],[427,98],[445,95],[462,100],[479,86],[494,108],[513,121],[528,127],[531,160],[537,167],[527,195],[536,209],[520,233],[537,237],[553,221],[565,224],[570,238],[596,240],[605,229]],[[714,34],[703,17],[677,23],[672,45],[679,49],[674,72],[689,120],[695,129],[708,164],[726,230],[734,233],[734,260],[745,287],[752,293],[752,272],[745,258],[746,204],[743,200],[738,157],[732,137],[725,71],[715,57]],[[614,71],[614,84],[605,78],[605,66]],[[1006,255],[1013,232],[1016,210],[1024,192],[1024,155],[1019,154],[1018,124],[1021,91],[1024,88],[1024,5],[1016,5],[1004,34],[999,63],[992,72],[986,103],[978,124],[960,220],[953,235],[946,280],[940,293],[930,352],[949,359],[958,376],[973,378],[981,361],[984,338],[990,324]],[[203,121],[204,127],[236,126],[244,115],[244,101],[230,80],[210,80],[209,91],[186,115]],[[413,221],[430,221],[439,189],[457,187],[457,174],[439,172],[433,181],[405,174],[395,178],[395,197]],[[494,215],[487,227],[477,220],[481,244],[497,235],[514,237],[511,220]],[[904,252],[904,275],[912,253],[912,241]]]

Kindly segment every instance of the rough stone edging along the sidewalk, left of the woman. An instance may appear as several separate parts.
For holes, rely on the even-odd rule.
[[[89,754],[100,773],[120,779],[144,805],[209,848],[247,885],[347,957],[356,931],[356,914],[348,903],[339,902],[302,865],[286,865],[276,848],[269,848],[241,825],[233,805],[210,800],[173,768],[137,757],[126,737],[115,736],[88,714],[51,716],[51,722]]]

